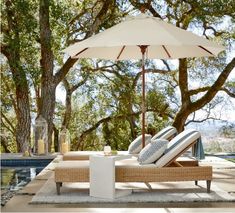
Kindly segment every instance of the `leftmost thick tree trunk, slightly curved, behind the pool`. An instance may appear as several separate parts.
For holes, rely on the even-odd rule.
[[[8,44],[2,49],[11,68],[16,93],[16,143],[17,151],[29,151],[30,147],[30,104],[29,87],[25,70],[20,61],[20,37],[18,20],[14,17],[15,11],[11,1],[6,1],[6,12],[9,36]]]

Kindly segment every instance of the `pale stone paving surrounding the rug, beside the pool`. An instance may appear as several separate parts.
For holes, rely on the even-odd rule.
[[[47,205],[29,205],[33,194],[35,194],[54,174],[53,170],[61,156],[55,158],[35,180],[29,183],[24,189],[15,195],[6,206],[1,208],[2,212],[234,212],[235,203],[233,202],[216,202],[216,203],[164,203],[163,205],[156,204],[116,204],[116,205],[93,205],[93,204],[47,204]],[[206,157],[200,164],[213,166],[213,182],[219,188],[230,192],[235,196],[235,163],[217,157]],[[104,208],[105,207],[105,208]],[[98,208],[98,209],[97,209]],[[111,209],[110,209],[111,208]],[[151,209],[154,208],[154,209]],[[163,208],[157,209],[156,208]],[[180,209],[178,209],[180,208]],[[184,208],[184,209],[182,209]],[[200,208],[200,210],[198,209]],[[209,208],[209,209],[208,209]]]

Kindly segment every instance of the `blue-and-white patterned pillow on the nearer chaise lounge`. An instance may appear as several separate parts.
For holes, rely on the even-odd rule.
[[[139,163],[148,164],[158,160],[167,149],[168,143],[168,140],[165,139],[151,140],[151,143],[140,151],[138,156]]]

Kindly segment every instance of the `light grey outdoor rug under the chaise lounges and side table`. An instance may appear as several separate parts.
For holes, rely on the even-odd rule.
[[[56,194],[53,178],[50,178],[33,197],[31,204],[71,204],[71,203],[163,203],[163,202],[217,202],[235,201],[235,197],[213,185],[211,193],[206,192],[205,181],[171,182],[152,184],[149,190],[142,183],[123,183],[119,188],[132,189],[125,197],[102,199],[89,196],[89,183],[64,183],[61,195]]]

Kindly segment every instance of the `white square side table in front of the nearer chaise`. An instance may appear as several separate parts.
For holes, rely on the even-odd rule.
[[[132,193],[129,189],[115,188],[115,161],[131,158],[131,155],[90,156],[90,196],[115,199]]]

